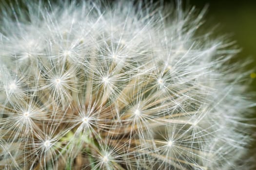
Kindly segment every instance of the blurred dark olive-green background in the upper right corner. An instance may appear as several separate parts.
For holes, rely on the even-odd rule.
[[[207,5],[205,25],[217,25],[217,35],[231,35],[230,39],[242,49],[236,60],[252,60],[246,69],[252,70],[247,77],[256,92],[256,0],[186,0],[185,3],[199,10]]]

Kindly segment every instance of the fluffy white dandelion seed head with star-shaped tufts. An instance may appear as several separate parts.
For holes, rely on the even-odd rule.
[[[251,102],[204,11],[26,3],[1,11],[0,169],[234,168]]]

